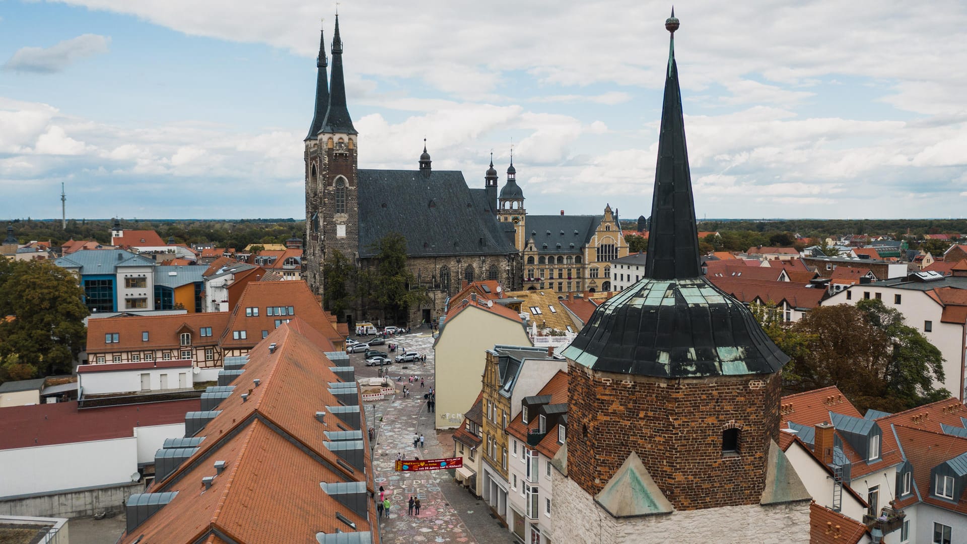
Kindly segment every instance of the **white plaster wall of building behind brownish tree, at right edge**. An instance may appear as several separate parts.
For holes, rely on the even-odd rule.
[[[941,284],[941,282],[937,282]],[[937,287],[942,287],[938,285]],[[846,293],[852,291],[853,297],[846,299]],[[835,304],[856,305],[864,300],[864,291],[869,291],[869,297],[875,298],[876,293],[883,293],[883,304],[887,308],[895,308],[903,314],[906,324],[916,328],[930,341],[930,344],[940,349],[944,355],[944,381],[935,381],[935,387],[946,387],[954,397],[963,399],[964,384],[960,380],[960,361],[963,346],[964,326],[941,322],[943,307],[927,296],[923,291],[914,289],[898,289],[895,287],[875,287],[874,284],[856,285],[839,291],[822,302],[823,306]],[[900,304],[894,304],[894,294],[900,295]],[[923,321],[932,321],[932,332],[923,331]]]

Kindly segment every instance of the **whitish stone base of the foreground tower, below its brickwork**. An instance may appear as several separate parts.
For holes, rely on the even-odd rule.
[[[571,447],[569,441],[569,448]],[[569,452],[570,454],[570,452]],[[551,542],[625,544],[789,544],[809,542],[809,501],[748,504],[671,514],[612,518],[558,470],[552,470]]]

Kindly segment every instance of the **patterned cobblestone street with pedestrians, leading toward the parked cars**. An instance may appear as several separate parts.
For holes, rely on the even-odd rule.
[[[432,336],[417,333],[387,342],[425,353],[426,363],[384,367],[396,383],[396,397],[367,403],[365,407],[367,423],[377,430],[373,451],[376,487],[382,486],[393,504],[389,515],[379,522],[381,541],[387,544],[511,542],[513,537],[490,516],[486,504],[454,483],[452,470],[396,472],[397,453],[402,453],[405,459],[450,457],[453,455],[453,442],[449,442],[447,450],[441,446],[433,429],[433,418],[426,412],[424,394],[433,387]],[[396,350],[398,352],[399,349]],[[361,353],[352,354],[351,361],[358,376],[376,376],[377,369],[366,367]],[[421,389],[419,379],[411,384],[409,376],[424,378],[424,388]],[[399,377],[402,379],[397,380]],[[402,396],[403,385],[413,392],[409,398]],[[413,447],[415,433],[424,435],[425,447]],[[411,496],[420,499],[419,516],[407,512]]]

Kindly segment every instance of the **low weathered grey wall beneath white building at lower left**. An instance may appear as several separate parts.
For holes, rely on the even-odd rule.
[[[122,512],[125,502],[144,491],[143,483],[0,500],[0,515],[81,518]]]

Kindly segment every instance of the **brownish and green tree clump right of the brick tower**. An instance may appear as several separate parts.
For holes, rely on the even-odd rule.
[[[764,328],[791,357],[789,392],[836,385],[861,410],[891,412],[950,396],[933,386],[944,379],[940,350],[881,300],[820,306],[793,325]]]

